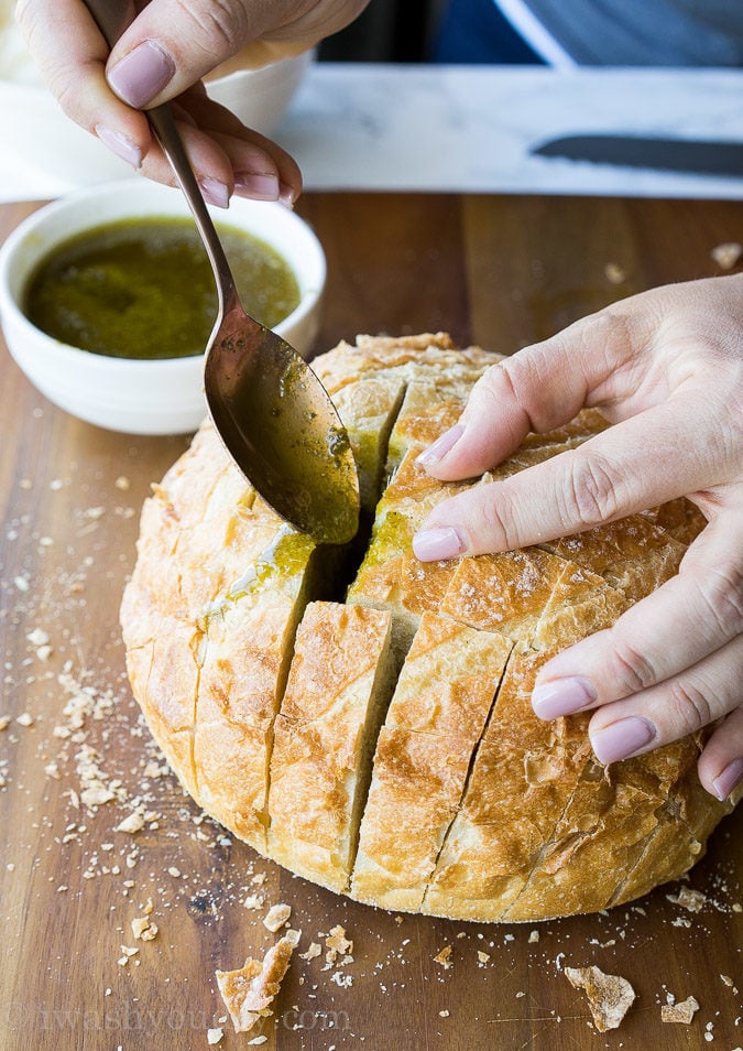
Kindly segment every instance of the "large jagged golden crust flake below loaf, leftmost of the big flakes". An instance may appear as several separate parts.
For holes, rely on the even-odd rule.
[[[236,1032],[249,1032],[273,1014],[269,1005],[281,988],[296,943],[296,936],[282,938],[262,962],[249,956],[238,971],[217,971],[217,985]]]

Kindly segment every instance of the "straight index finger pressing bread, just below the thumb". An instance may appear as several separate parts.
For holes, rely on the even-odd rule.
[[[575,449],[442,500],[414,551],[423,561],[510,551],[730,481],[740,451],[720,441],[729,414],[721,396],[677,392]]]

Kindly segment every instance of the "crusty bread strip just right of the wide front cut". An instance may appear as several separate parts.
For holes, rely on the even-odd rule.
[[[420,908],[510,651],[498,635],[423,615],[379,736],[352,897]]]

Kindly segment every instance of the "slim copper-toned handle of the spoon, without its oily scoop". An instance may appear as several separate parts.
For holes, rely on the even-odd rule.
[[[109,47],[113,47],[123,31],[136,14],[133,3],[122,3],[121,0],[85,0],[90,14],[94,17],[98,29],[103,34]],[[219,235],[211,221],[211,216],[204,202],[194,169],[183,145],[181,133],[173,119],[171,107],[167,102],[145,110],[145,116],[150,121],[157,141],[163,152],[175,172],[178,185],[183,191],[188,206],[193,213],[196,226],[198,227],[204,247],[206,248],[217,282],[217,295],[219,301],[219,317],[217,324],[227,314],[236,307],[240,308],[240,299],[238,296],[234,278],[230,264],[227,261],[225,249],[222,248]]]

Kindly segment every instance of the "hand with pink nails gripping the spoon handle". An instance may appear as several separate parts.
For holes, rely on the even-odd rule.
[[[150,0],[136,4],[140,13],[110,53],[81,0],[19,0],[17,18],[65,113],[167,184],[173,172],[140,110],[174,101],[204,196],[226,208],[233,193],[291,205],[302,175],[288,153],[211,101],[200,78],[238,52],[261,65],[306,50],[351,22],[367,2]]]

